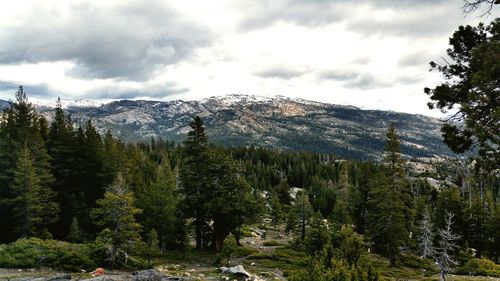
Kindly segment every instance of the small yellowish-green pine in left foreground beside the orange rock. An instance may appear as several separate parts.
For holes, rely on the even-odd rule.
[[[142,212],[134,207],[134,195],[121,174],[108,186],[104,198],[97,201],[98,208],[92,210],[92,218],[98,226],[107,227],[112,231],[111,268],[115,264],[117,254],[133,249],[140,241],[141,225],[135,221],[135,216]]]

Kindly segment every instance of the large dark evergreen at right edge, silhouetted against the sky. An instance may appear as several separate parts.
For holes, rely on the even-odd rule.
[[[457,110],[443,124],[444,142],[457,153],[477,148],[481,169],[496,174],[500,163],[499,40],[500,18],[486,26],[460,26],[449,41],[450,60],[443,65],[430,62],[445,82],[424,89],[432,100],[429,108]]]

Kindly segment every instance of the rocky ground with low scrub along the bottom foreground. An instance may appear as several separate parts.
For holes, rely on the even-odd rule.
[[[286,273],[300,268],[298,260],[301,252],[284,247],[292,241],[286,236],[283,227],[253,226],[245,230],[242,238],[244,247],[233,255],[229,265],[216,265],[216,256],[208,252],[188,250],[169,252],[154,261],[150,270],[127,272],[107,270],[103,276],[92,277],[87,272],[60,272],[50,268],[41,269],[0,269],[0,280],[12,281],[272,281],[286,280]],[[385,260],[380,258],[380,262]],[[380,270],[384,270],[382,267]],[[380,271],[379,270],[379,271]],[[386,280],[439,280],[437,275],[425,276],[418,269],[397,268],[393,272],[381,272]],[[398,276],[398,277],[392,277]],[[403,276],[403,277],[401,277]],[[403,278],[403,279],[401,279]],[[449,276],[451,281],[500,281],[500,278],[478,276]]]

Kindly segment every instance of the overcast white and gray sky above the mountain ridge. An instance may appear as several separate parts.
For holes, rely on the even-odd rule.
[[[199,100],[282,95],[442,116],[442,81],[461,0],[40,0],[0,9],[0,99]],[[484,7],[485,8],[485,7]]]

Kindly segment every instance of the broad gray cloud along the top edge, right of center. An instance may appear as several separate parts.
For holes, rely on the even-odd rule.
[[[261,29],[277,22],[315,27],[343,22],[347,29],[365,35],[395,34],[399,36],[436,35],[449,32],[454,26],[450,12],[461,13],[455,0],[283,0],[256,1],[253,11],[244,18],[243,30]],[[369,14],[358,15],[357,8],[371,6],[371,10],[393,10],[396,18],[376,19]],[[456,7],[450,11],[450,7]]]

